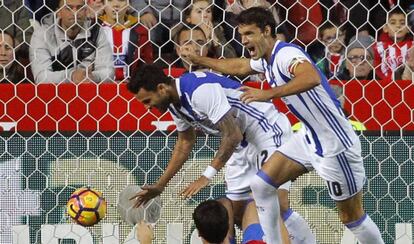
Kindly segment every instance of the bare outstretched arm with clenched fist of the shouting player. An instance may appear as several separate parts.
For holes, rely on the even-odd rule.
[[[210,68],[214,71],[233,75],[233,76],[247,76],[257,73],[250,67],[250,59],[248,58],[226,58],[215,59],[195,55],[193,51],[189,51],[192,47],[185,46],[181,49],[181,57],[189,63],[197,64]]]

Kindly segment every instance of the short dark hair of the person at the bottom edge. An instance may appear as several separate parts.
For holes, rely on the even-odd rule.
[[[200,203],[193,213],[198,233],[210,243],[222,243],[229,231],[227,209],[216,200]]]

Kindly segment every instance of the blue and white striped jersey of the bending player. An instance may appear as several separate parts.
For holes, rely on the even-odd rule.
[[[290,125],[279,126],[278,118],[285,117],[270,102],[244,104],[240,100],[240,83],[211,72],[186,73],[176,79],[181,107],[170,105],[178,131],[190,126],[207,134],[219,135],[217,122],[231,112],[244,134],[244,140],[254,145],[273,140],[280,146],[282,136]],[[287,120],[283,120],[286,121]]]

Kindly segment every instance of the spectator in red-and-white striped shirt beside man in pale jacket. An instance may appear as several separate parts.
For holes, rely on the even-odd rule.
[[[127,0],[107,0],[104,15],[99,17],[103,32],[112,44],[115,80],[129,77],[138,63],[152,63],[153,50],[148,30],[138,18],[127,14]]]

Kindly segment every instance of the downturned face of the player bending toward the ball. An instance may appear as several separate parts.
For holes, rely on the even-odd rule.
[[[147,91],[141,88],[135,97],[144,104],[145,108],[156,108],[161,113],[165,113],[172,102],[163,87],[158,88],[156,91]]]

